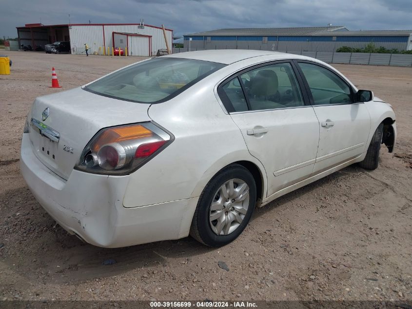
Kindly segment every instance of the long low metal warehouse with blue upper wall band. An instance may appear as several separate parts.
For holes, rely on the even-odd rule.
[[[258,49],[334,52],[342,46],[412,49],[412,30],[350,31],[344,26],[219,29],[184,35],[184,50]]]

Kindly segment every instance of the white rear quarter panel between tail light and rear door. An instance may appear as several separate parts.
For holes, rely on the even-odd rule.
[[[130,176],[123,206],[197,197],[221,168],[236,161],[255,163],[266,185],[263,166],[216,100],[214,86],[220,78],[213,75],[168,102],[151,105],[149,117],[175,140]]]

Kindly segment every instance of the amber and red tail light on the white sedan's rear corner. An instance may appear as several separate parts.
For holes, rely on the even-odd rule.
[[[87,144],[75,168],[100,174],[128,174],[171,142],[171,135],[153,123],[102,129]]]

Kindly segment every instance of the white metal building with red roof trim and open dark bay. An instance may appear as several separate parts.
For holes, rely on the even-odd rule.
[[[161,27],[140,23],[119,24],[61,24],[42,25],[40,23],[26,24],[16,27],[19,44],[36,46],[53,43],[55,41],[70,41],[72,54],[84,52],[84,43],[87,43],[91,53],[111,53],[112,47],[125,50],[127,46],[129,56],[152,56],[158,49],[166,48],[163,30]],[[172,46],[173,30],[166,29],[169,46]]]

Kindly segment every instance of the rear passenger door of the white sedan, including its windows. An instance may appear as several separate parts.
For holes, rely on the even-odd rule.
[[[314,168],[319,124],[301,85],[293,62],[283,61],[242,71],[218,87],[249,152],[266,169],[267,196],[308,178]]]

